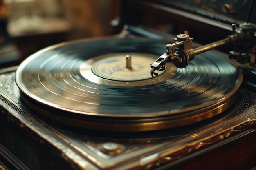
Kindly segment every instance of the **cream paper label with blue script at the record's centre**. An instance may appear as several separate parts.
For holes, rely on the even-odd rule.
[[[129,55],[128,55],[129,54]],[[129,59],[127,59],[127,56]],[[148,74],[148,66],[155,61],[155,55],[139,53],[117,53],[94,57],[81,64],[80,73],[87,78],[88,68],[92,64],[92,73],[95,75],[116,81],[138,81],[152,78]],[[93,61],[92,61],[93,60]],[[128,60],[128,61],[127,61]],[[127,68],[127,62],[130,62],[130,68]],[[177,68],[173,68],[173,74]],[[159,72],[159,75],[164,71]],[[168,77],[171,78],[171,77]]]

